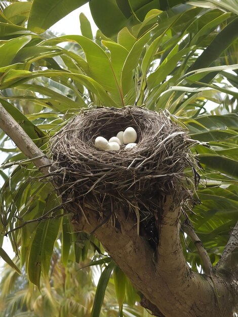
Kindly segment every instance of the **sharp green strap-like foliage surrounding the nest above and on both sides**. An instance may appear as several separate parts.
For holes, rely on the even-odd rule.
[[[199,7],[195,1],[188,2],[193,6],[178,1],[171,8],[154,7],[152,1],[152,7],[147,7],[136,1],[132,7],[130,1],[120,5],[111,0],[107,11],[104,1],[95,10],[96,0],[92,0],[91,11],[101,29],[95,38],[82,15],[83,35],[43,32],[85,2],[71,2],[68,11],[65,1],[62,6],[44,1],[44,11],[38,11],[42,0],[34,0],[32,6],[30,2],[6,6],[0,14],[0,101],[45,152],[50,137],[83,108],[135,104],[167,109],[188,128],[191,138],[208,143],[193,149],[201,163],[201,182],[197,205],[189,217],[215,265],[237,219],[235,6],[231,10],[230,2],[214,0],[200,1]],[[30,281],[39,287],[41,273],[48,275],[57,239],[66,267],[69,256],[78,263],[87,258],[89,250],[103,253],[94,237],[70,233],[70,221],[63,216],[52,185],[18,148],[12,144],[9,148],[3,132],[0,140],[1,150],[9,154],[0,170],[4,179],[1,242],[10,231],[14,251],[20,256],[17,265],[25,265]],[[183,247],[196,270],[201,259],[189,238],[184,237]],[[14,265],[9,258],[5,260]],[[120,307],[123,292],[116,291]]]

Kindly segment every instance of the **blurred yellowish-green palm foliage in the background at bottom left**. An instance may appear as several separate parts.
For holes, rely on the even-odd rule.
[[[93,256],[92,250],[89,252]],[[70,254],[71,256],[71,254]],[[98,255],[95,256],[97,262]],[[98,276],[105,272],[105,266],[87,266],[90,258],[83,265],[75,264],[73,257],[64,266],[60,259],[60,245],[56,244],[51,261],[49,277],[42,277],[41,291],[28,282],[25,270],[19,276],[9,267],[4,268],[1,281],[0,316],[77,316],[90,317],[96,292]],[[111,266],[115,266],[111,263]],[[109,276],[110,277],[110,276]],[[106,284],[105,301],[100,317],[117,316],[118,304],[115,299],[115,287],[110,278]],[[103,299],[103,298],[102,298]],[[127,300],[128,301],[128,300]],[[142,307],[131,308],[124,304],[125,317],[138,314],[147,317]]]

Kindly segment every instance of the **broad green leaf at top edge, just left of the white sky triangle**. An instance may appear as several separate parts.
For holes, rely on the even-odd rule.
[[[27,28],[42,33],[88,0],[33,0]]]

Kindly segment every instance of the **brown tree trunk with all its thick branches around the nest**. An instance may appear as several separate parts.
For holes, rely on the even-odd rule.
[[[37,148],[25,131],[0,104],[0,128],[45,175],[51,161]],[[76,231],[92,232],[143,294],[142,304],[160,317],[231,317],[238,310],[236,224],[214,276],[193,272],[186,263],[180,244],[180,208],[171,197],[163,206],[160,243],[156,252],[137,233],[134,221],[120,213],[121,228],[98,221],[87,209],[85,216],[72,220]],[[236,259],[236,261],[235,261]],[[227,272],[228,273],[224,273]]]

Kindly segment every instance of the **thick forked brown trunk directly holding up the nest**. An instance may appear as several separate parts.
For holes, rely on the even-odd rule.
[[[180,209],[173,209],[171,197],[164,205],[158,253],[154,252],[143,236],[137,234],[136,221],[126,217],[126,212],[117,212],[120,229],[107,223],[98,226],[98,214],[93,210],[85,208],[84,213],[88,222],[79,212],[79,218],[73,221],[74,229],[90,233],[97,228],[94,234],[143,294],[143,306],[153,309],[155,315],[222,316],[211,279],[193,272],[186,263],[180,244]],[[223,299],[229,294],[228,284],[217,278],[214,283],[222,298],[219,304],[224,315],[228,316],[226,308],[223,308]]]

